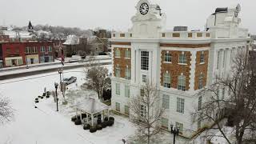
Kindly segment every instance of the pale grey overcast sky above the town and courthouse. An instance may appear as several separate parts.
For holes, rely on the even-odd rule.
[[[256,34],[256,0],[159,0],[166,13],[168,29],[189,26],[201,29],[206,18],[216,7],[240,3],[242,27]],[[82,29],[102,27],[109,30],[127,30],[135,14],[138,0],[0,0],[0,20],[6,25],[71,26]]]

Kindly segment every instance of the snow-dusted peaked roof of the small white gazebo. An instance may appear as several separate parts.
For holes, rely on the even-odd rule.
[[[99,102],[98,99],[94,98],[86,98],[83,102],[78,103],[75,106],[78,110],[82,110],[83,112],[94,114],[101,112],[103,110],[109,110],[109,106],[106,104]]]

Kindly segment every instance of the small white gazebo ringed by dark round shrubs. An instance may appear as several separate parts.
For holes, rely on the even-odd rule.
[[[89,123],[91,120],[91,126],[94,126],[94,117],[96,117],[97,121],[98,115],[101,114],[103,121],[105,115],[109,115],[109,106],[99,102],[95,98],[86,98],[84,101],[78,103],[75,108],[76,114],[80,114],[81,122]],[[82,114],[86,114],[86,118],[82,119]]]

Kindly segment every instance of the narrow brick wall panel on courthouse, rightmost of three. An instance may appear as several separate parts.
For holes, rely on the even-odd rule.
[[[208,58],[209,58],[209,50],[204,50],[204,63],[200,64],[200,55],[201,51],[197,52],[196,55],[196,64],[195,64],[195,74],[194,74],[194,90],[198,90],[199,85],[199,76],[202,73],[203,74],[203,85],[206,86],[207,82],[207,69],[208,69]]]

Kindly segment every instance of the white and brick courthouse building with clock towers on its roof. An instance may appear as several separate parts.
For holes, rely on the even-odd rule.
[[[140,0],[128,32],[114,32],[112,109],[129,115],[129,99],[141,94],[146,82],[154,82],[166,110],[159,125],[178,126],[190,138],[203,126],[194,111],[205,97],[194,94],[214,82],[215,74],[228,74],[238,50],[247,50],[248,30],[239,27],[240,6],[219,9],[207,19],[205,31],[166,30],[166,15],[152,0]],[[225,98],[227,90],[220,88]],[[141,106],[142,115],[145,106]]]

